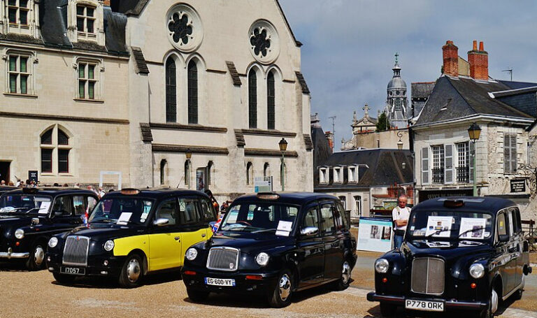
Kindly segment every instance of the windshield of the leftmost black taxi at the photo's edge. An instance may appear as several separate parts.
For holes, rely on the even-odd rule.
[[[50,210],[50,196],[32,194],[9,194],[0,198],[0,213],[46,215]]]

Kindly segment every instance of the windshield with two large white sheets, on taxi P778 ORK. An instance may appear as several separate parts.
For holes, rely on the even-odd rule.
[[[492,215],[480,212],[420,211],[408,222],[414,238],[483,240],[492,236]]]

